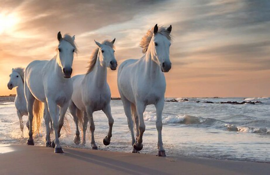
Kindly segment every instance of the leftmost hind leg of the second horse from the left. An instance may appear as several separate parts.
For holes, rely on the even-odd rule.
[[[29,121],[29,138],[27,139],[27,145],[34,145],[32,125],[33,125],[33,117],[34,117],[33,116],[33,105],[34,105],[35,97],[30,92],[26,83],[25,83],[25,97],[26,97],[28,121]]]

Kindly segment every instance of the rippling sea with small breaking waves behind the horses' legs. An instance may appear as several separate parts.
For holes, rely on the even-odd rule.
[[[162,116],[162,138],[167,157],[185,156],[270,163],[270,98],[168,98],[166,101],[168,102],[165,102]],[[98,149],[132,152],[131,136],[122,101],[111,100],[111,111],[114,125],[109,146],[103,145],[103,138],[109,128],[108,119],[102,111],[93,114]],[[156,155],[156,111],[153,105],[147,106],[144,120],[146,130],[140,153]],[[27,122],[27,116],[23,117],[23,122]],[[75,145],[75,124],[73,118],[67,114],[60,143],[63,148],[91,149],[89,130],[88,126],[86,144]],[[20,131],[14,103],[0,103],[0,143],[26,144],[27,137],[26,126],[23,135]],[[54,134],[51,138],[54,138]],[[36,146],[45,146],[44,121],[42,130],[35,136],[34,141]]]

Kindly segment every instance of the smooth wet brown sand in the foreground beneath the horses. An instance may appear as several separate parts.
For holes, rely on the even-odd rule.
[[[0,174],[270,174],[270,164],[26,145],[2,145]]]

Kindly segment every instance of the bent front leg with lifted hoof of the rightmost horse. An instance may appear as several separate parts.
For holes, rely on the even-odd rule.
[[[145,110],[145,105],[136,101],[136,109],[137,109],[137,114],[138,114],[138,118],[139,118],[139,131],[140,131],[140,134],[139,134],[139,137],[137,138],[136,143],[133,145],[133,147],[134,147],[135,150],[140,151],[140,150],[142,150],[142,147],[143,147],[143,145],[142,145],[142,135],[145,132],[145,122],[144,122],[144,119],[143,119],[143,112]]]

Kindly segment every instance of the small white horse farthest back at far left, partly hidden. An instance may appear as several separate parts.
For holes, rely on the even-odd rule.
[[[24,83],[24,69],[17,67],[12,69],[11,74],[9,75],[10,79],[8,82],[8,89],[12,90],[16,88],[17,95],[15,97],[15,107],[17,109],[17,115],[20,121],[20,130],[22,131],[23,136],[23,115],[28,115],[26,100],[23,91]],[[27,128],[29,129],[29,121],[26,123]]]

